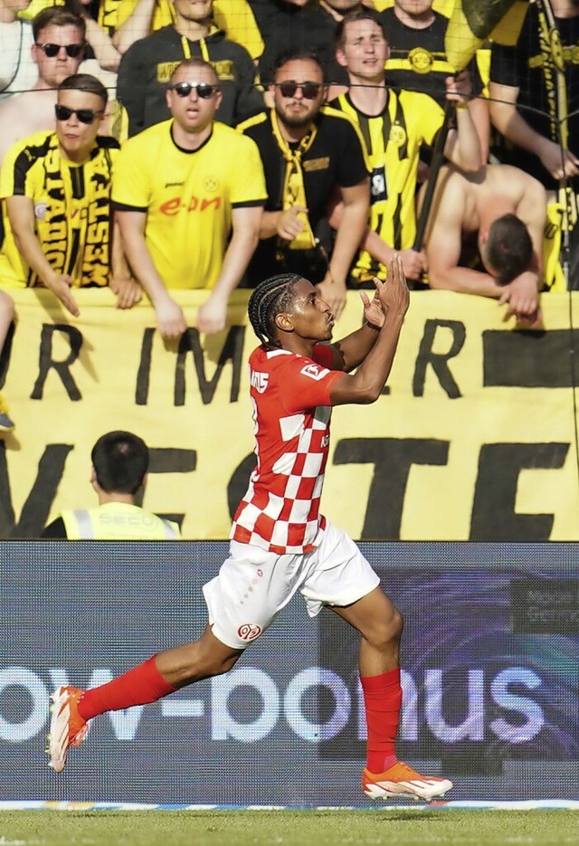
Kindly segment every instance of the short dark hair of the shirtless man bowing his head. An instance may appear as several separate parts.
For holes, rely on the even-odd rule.
[[[503,214],[491,223],[485,244],[486,260],[497,272],[500,285],[528,271],[533,263],[533,242],[527,226],[516,214]]]

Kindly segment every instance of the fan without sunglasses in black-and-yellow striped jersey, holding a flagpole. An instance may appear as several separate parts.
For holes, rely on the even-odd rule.
[[[423,253],[413,250],[419,153],[423,142],[432,145],[443,110],[427,94],[387,87],[384,63],[389,48],[372,10],[347,14],[337,25],[336,41],[337,62],[346,68],[350,88],[331,105],[357,123],[372,165],[370,220],[352,281],[373,285],[373,277],[385,279],[394,252],[402,257],[406,277],[418,280],[424,270]],[[449,132],[444,154],[465,171],[477,170],[480,146],[468,104],[469,74],[448,77],[446,93],[448,100],[457,102],[457,126]],[[333,223],[339,214],[338,206]]]

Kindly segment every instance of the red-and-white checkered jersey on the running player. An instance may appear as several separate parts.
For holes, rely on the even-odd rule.
[[[258,347],[250,356],[250,394],[257,467],[233,518],[233,540],[270,552],[311,552],[320,542],[319,514],[329,447],[329,392],[341,370],[332,351],[313,358]]]

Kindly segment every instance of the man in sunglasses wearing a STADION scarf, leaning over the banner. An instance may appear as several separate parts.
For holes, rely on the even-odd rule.
[[[121,309],[142,295],[129,278],[120,239],[112,237],[110,186],[119,144],[98,135],[106,105],[107,90],[95,77],[68,77],[53,107],[56,129],[10,147],[0,172],[0,280],[48,288],[77,317],[75,288],[109,285]]]

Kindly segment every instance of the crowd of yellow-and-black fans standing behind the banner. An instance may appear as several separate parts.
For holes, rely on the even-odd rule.
[[[215,332],[234,288],[293,271],[339,317],[394,252],[412,288],[536,326],[542,291],[579,287],[579,0],[531,0],[517,43],[463,69],[448,11],[0,0],[0,351],[11,288],[73,315],[81,286],[121,309],[145,292],[171,338],[171,290],[210,290],[197,326]]]

